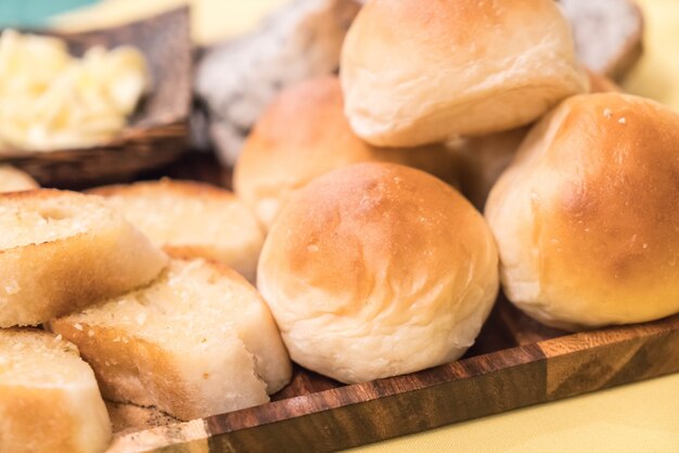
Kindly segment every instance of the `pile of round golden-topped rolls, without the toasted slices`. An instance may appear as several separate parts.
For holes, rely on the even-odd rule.
[[[338,81],[279,95],[235,167],[292,359],[344,383],[450,362],[500,281],[567,329],[679,311],[679,116],[618,91],[551,0],[368,1]]]

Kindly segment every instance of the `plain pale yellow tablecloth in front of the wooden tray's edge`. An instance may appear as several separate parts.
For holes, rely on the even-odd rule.
[[[679,374],[351,451],[679,452]]]

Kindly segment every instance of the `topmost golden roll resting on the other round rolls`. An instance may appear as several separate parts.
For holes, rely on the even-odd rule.
[[[553,0],[371,0],[341,77],[354,131],[379,146],[527,125],[588,83]]]

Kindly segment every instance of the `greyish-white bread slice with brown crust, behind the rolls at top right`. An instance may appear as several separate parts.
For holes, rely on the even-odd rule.
[[[631,0],[559,0],[573,26],[578,59],[620,80],[642,53],[643,16]]]

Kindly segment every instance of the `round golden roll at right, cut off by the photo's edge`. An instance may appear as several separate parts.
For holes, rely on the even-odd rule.
[[[508,298],[578,329],[679,311],[679,115],[585,94],[528,134],[486,217]]]

